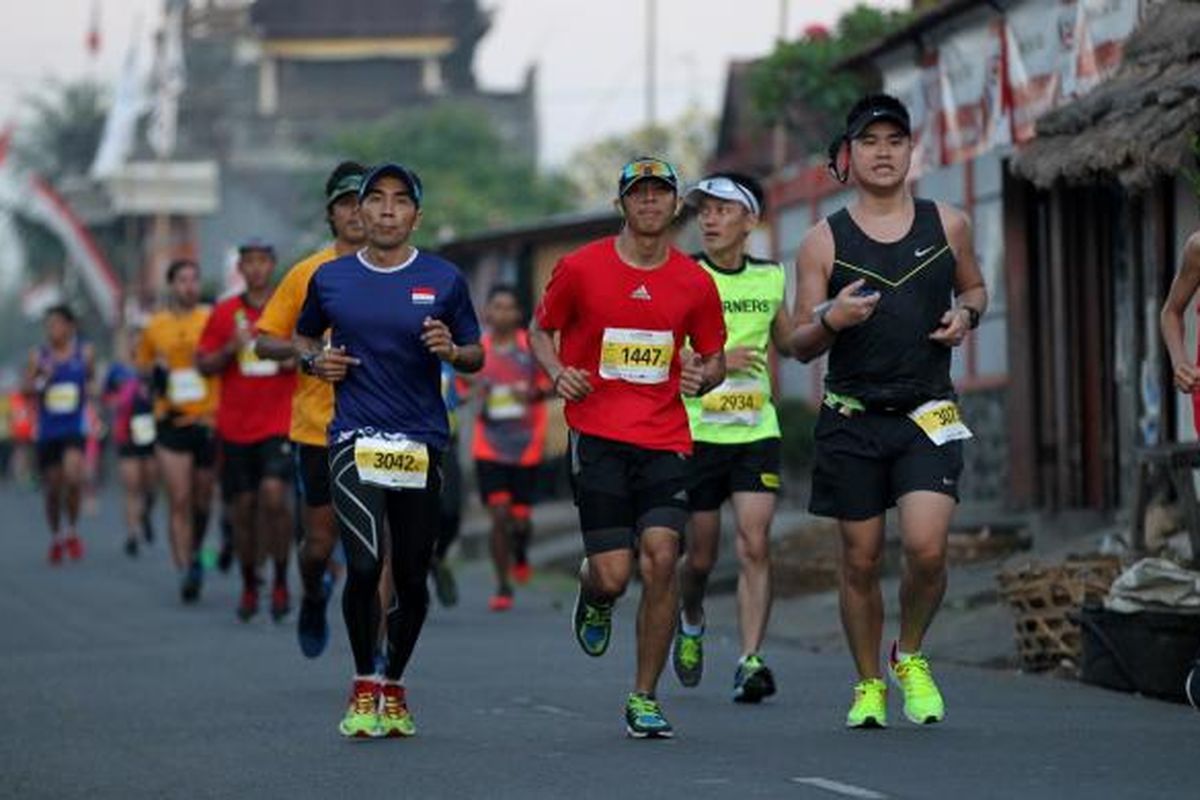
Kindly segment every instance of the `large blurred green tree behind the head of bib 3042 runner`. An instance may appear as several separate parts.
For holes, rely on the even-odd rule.
[[[418,243],[539,219],[574,207],[570,186],[512,152],[487,114],[458,103],[401,112],[338,136],[340,157],[400,161],[425,186]]]

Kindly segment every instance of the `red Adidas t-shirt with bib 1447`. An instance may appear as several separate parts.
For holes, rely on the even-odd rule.
[[[628,265],[616,237],[564,255],[538,306],[538,325],[559,332],[564,366],[587,369],[593,391],[565,407],[575,431],[646,447],[691,452],[679,398],[679,350],[725,348],[713,278],[671,248],[653,270]]]

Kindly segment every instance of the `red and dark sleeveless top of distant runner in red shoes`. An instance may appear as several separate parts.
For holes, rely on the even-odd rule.
[[[491,333],[479,341],[484,368],[475,373],[482,403],[472,439],[475,461],[532,467],[541,462],[546,444],[546,403],[529,392],[550,391],[550,378],[529,350],[529,335],[517,331],[510,347],[498,348]]]

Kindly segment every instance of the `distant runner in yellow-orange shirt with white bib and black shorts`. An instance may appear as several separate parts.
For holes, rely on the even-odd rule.
[[[200,303],[200,265],[172,263],[167,285],[168,307],[146,323],[136,365],[157,395],[155,455],[167,487],[172,558],[182,573],[180,596],[190,603],[200,596],[204,581],[200,546],[216,481],[216,391],[196,368],[196,345],[209,319],[209,307]]]

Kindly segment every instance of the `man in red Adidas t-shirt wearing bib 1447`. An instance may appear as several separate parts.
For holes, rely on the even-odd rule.
[[[634,738],[672,735],[654,697],[678,613],[674,569],[688,522],[691,431],[680,391],[725,379],[725,318],[712,277],[671,246],[679,178],[658,158],[625,164],[625,225],[565,255],[530,332],[534,354],[566,399],[571,477],[583,549],[575,637],[607,650],[612,606],[642,576],[637,679],[625,703]],[[556,348],[553,335],[559,333]],[[695,353],[683,349],[689,342]]]

